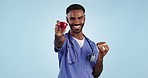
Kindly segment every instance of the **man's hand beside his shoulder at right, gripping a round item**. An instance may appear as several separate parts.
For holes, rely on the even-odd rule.
[[[108,45],[106,44],[106,42],[98,42],[97,46],[98,46],[98,49],[100,51],[99,55],[104,57],[107,54],[107,52],[109,51]]]

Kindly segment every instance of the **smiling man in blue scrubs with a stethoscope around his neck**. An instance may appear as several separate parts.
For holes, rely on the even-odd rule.
[[[85,9],[72,4],[66,9],[68,33],[55,26],[55,51],[58,52],[60,72],[58,78],[98,78],[103,70],[103,57],[109,50],[105,42],[97,45],[87,38],[82,29],[85,23]]]

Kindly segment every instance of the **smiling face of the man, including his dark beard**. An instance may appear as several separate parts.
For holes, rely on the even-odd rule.
[[[71,10],[67,14],[67,22],[74,33],[80,33],[85,23],[85,15],[82,10]]]

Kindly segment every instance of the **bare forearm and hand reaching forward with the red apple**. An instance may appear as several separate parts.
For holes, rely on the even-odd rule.
[[[62,30],[58,25],[59,25],[59,21],[57,21],[57,24],[55,25],[54,43],[55,43],[55,47],[60,48],[60,47],[62,47],[62,45],[66,39],[63,34],[66,29]]]

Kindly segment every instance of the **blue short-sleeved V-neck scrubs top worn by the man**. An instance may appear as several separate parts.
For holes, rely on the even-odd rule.
[[[89,40],[95,53],[95,61],[90,62],[87,58],[92,53],[91,46],[88,41],[84,40],[83,46],[80,48],[78,42],[70,36],[69,42],[68,33],[65,34],[66,40],[60,49],[55,47],[55,52],[58,52],[59,59],[59,76],[58,78],[94,78],[93,68],[98,58],[98,48],[94,42]]]

